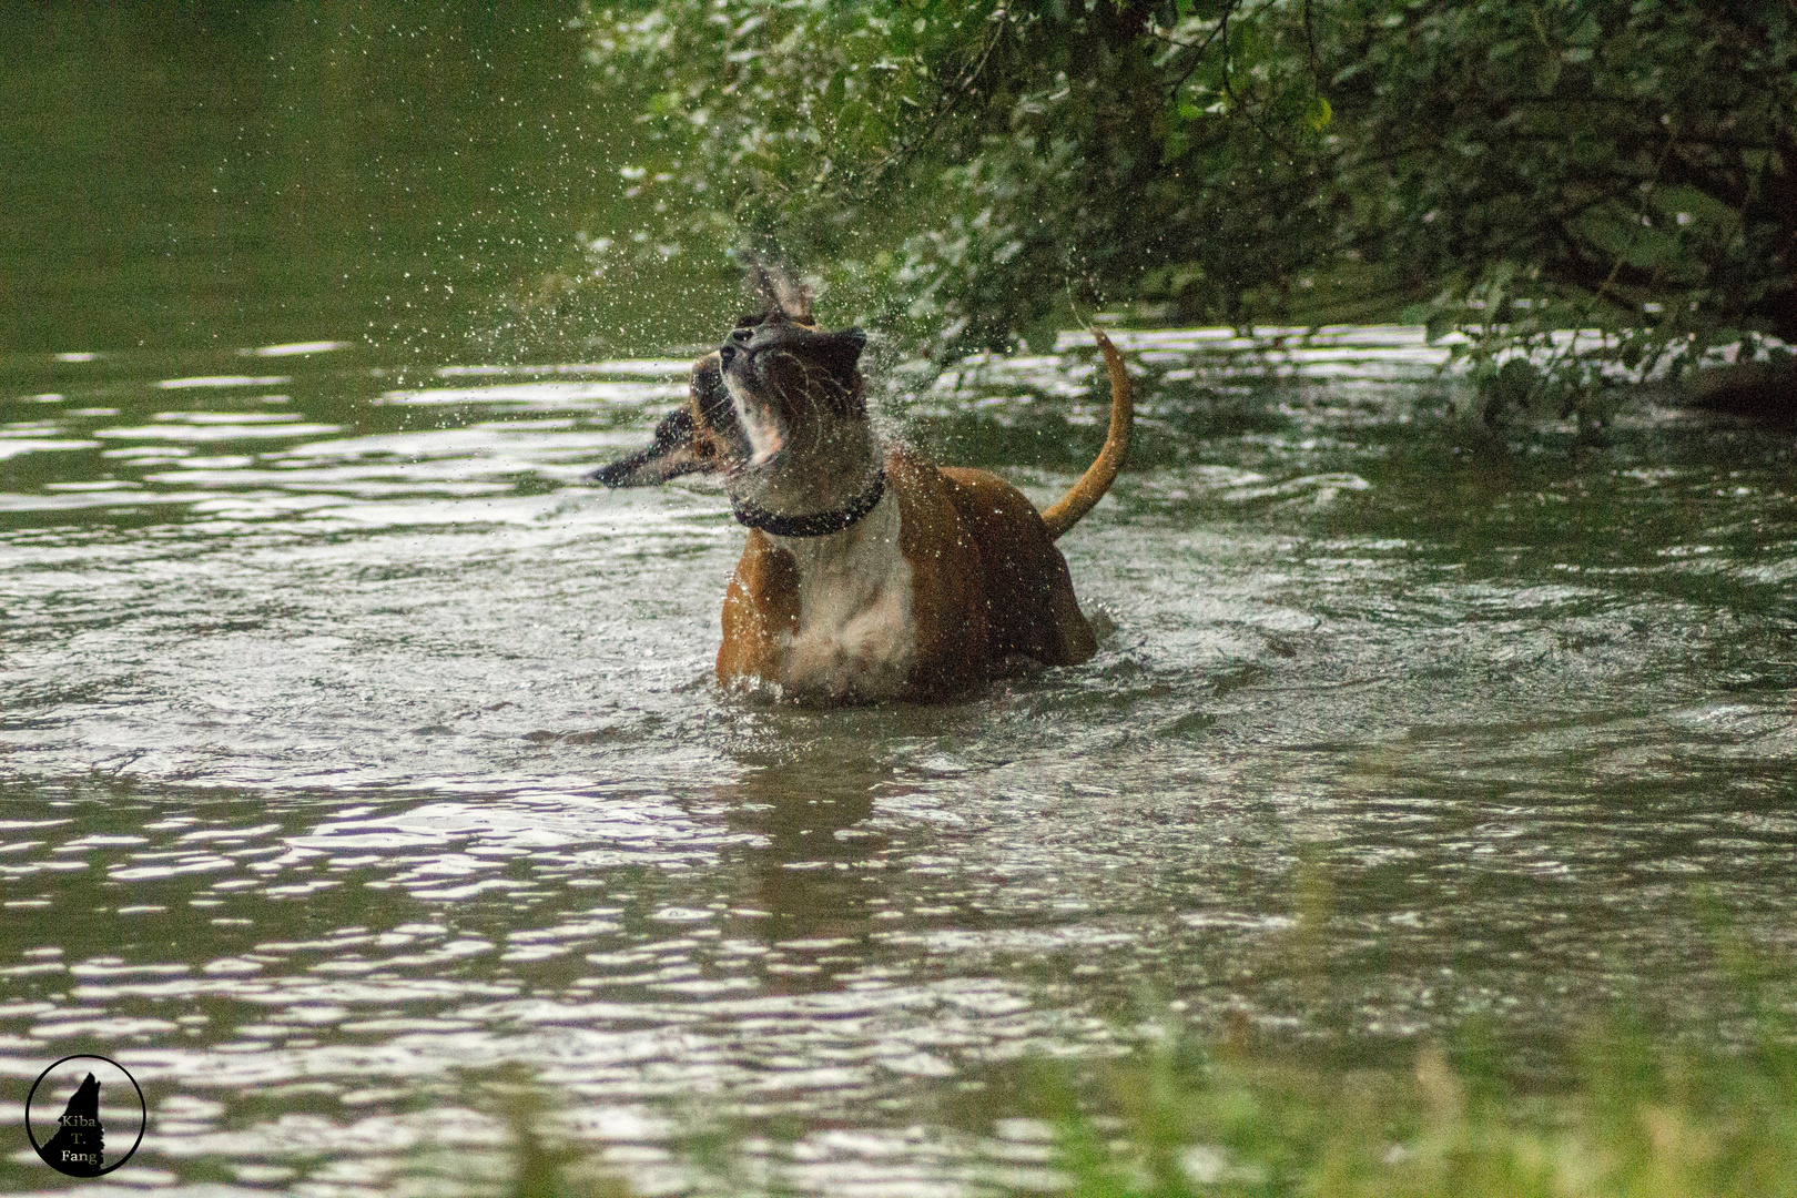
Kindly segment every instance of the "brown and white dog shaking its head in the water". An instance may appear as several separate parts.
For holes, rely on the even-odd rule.
[[[766,311],[694,363],[690,397],[654,442],[593,476],[724,476],[749,539],[724,596],[717,677],[807,702],[945,700],[1091,657],[1055,539],[1129,453],[1130,383],[1111,339],[1094,334],[1111,372],[1105,445],[1039,514],[994,474],[882,444],[857,368],[866,336],[819,329],[810,296],[783,278],[764,275],[758,289]]]

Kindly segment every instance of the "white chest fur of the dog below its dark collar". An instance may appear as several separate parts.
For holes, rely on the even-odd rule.
[[[780,683],[828,699],[890,699],[916,659],[911,564],[898,551],[898,498],[828,537],[775,537],[798,562],[798,632]]]

